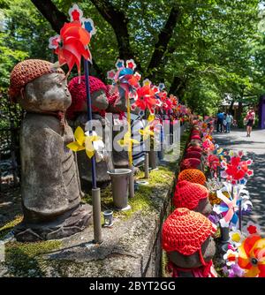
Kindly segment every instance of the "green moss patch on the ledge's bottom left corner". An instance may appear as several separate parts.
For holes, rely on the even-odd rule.
[[[61,246],[62,242],[58,240],[7,243],[5,244],[5,265],[11,276],[42,276],[41,255],[58,250]]]

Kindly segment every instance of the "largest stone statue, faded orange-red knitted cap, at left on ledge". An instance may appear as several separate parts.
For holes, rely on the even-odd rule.
[[[64,118],[71,104],[64,72],[29,59],[11,72],[10,96],[27,111],[20,129],[21,195],[24,219],[19,241],[64,238],[92,222],[92,208],[81,206],[82,192],[74,140]]]

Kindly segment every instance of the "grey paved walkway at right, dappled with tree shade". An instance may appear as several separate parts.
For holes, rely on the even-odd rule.
[[[261,226],[265,233],[265,130],[252,132],[251,137],[246,137],[242,130],[231,131],[231,133],[215,133],[216,143],[220,147],[233,150],[244,150],[246,155],[253,159],[254,176],[246,184],[253,203],[251,216],[243,217],[243,224],[249,218]]]

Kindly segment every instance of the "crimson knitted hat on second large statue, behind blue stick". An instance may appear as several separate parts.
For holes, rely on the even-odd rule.
[[[82,110],[84,105],[87,103],[87,90],[86,90],[85,76],[83,75],[81,77],[72,78],[72,80],[68,84],[68,88],[72,96],[72,104],[68,108],[66,115],[70,119],[73,119],[74,113]],[[97,79],[93,76],[89,76],[89,89],[90,89],[91,95],[95,91],[102,90],[105,93],[107,91],[107,87],[102,82],[102,80]]]

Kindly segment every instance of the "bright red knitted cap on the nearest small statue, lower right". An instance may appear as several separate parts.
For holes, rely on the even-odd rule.
[[[167,252],[192,255],[216,232],[216,225],[199,212],[177,208],[163,223],[162,246]]]

